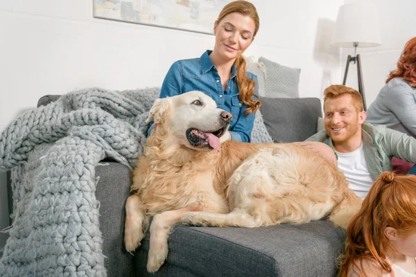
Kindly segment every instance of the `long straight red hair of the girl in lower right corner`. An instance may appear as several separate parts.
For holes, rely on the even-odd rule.
[[[363,276],[367,276],[363,269],[364,260],[383,271],[391,271],[385,260],[386,249],[393,249],[384,233],[387,226],[404,236],[416,230],[415,175],[383,172],[374,182],[360,211],[348,225],[340,277],[348,276],[348,272],[354,269],[364,271]]]

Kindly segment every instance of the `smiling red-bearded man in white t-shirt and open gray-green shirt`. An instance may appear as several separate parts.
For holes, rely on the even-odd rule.
[[[392,170],[392,157],[416,163],[416,139],[364,123],[365,117],[361,94],[333,84],[324,91],[325,130],[306,140],[326,143],[334,150],[349,188],[362,199],[382,172]]]

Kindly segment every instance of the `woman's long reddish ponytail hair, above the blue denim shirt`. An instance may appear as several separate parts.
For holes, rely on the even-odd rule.
[[[255,29],[252,39],[254,39],[260,27],[260,19],[257,14],[256,7],[248,1],[232,1],[224,6],[216,21],[219,23],[224,17],[233,12],[238,12],[241,15],[245,15],[253,19]],[[235,65],[237,71],[237,84],[239,86],[239,98],[245,105],[248,105],[248,108],[245,111],[246,114],[251,114],[256,112],[261,105],[259,98],[253,97],[255,96],[254,87],[256,87],[256,83],[254,80],[247,77],[247,73],[245,71],[245,58],[242,55],[236,58]]]

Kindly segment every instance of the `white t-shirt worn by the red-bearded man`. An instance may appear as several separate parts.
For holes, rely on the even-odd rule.
[[[335,152],[338,155],[338,168],[347,178],[349,182],[348,187],[354,190],[354,193],[361,199],[364,199],[373,181],[365,161],[363,141],[361,141],[360,148],[353,152]]]

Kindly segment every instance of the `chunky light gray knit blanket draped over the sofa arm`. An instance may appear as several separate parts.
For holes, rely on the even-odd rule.
[[[159,91],[74,91],[4,129],[0,169],[12,169],[14,199],[0,276],[107,275],[95,167],[105,157],[134,166]]]

